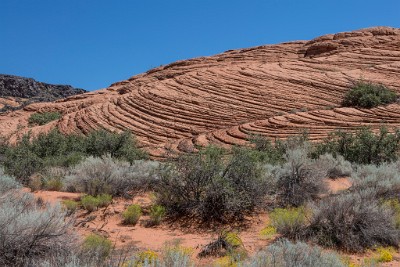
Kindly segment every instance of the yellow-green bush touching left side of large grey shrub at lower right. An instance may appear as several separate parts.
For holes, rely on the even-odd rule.
[[[287,238],[299,238],[306,226],[306,210],[304,207],[274,209],[270,213],[270,225]]]

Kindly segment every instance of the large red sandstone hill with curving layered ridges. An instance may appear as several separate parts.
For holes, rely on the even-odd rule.
[[[178,61],[107,89],[26,106],[0,116],[0,129],[12,133],[27,127],[27,114],[59,110],[60,121],[33,131],[130,129],[155,157],[245,144],[252,133],[284,138],[308,129],[319,140],[338,128],[400,126],[398,104],[340,108],[359,79],[400,93],[399,74],[400,29],[377,27]]]

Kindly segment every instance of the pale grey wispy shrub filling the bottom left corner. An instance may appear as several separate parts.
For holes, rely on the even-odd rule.
[[[0,265],[32,266],[74,248],[72,221],[59,205],[39,205],[29,193],[0,196]]]

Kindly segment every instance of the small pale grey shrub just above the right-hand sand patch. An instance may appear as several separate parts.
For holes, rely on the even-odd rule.
[[[316,164],[321,165],[321,167],[323,166],[324,169],[327,169],[327,175],[332,179],[350,176],[353,172],[351,163],[345,160],[341,155],[337,155],[336,158],[331,154],[321,155]]]

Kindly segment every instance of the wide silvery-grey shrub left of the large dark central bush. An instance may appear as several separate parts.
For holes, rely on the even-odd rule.
[[[135,161],[130,165],[110,156],[89,157],[70,170],[66,188],[89,195],[127,196],[130,191],[154,186],[158,166],[153,161]]]

